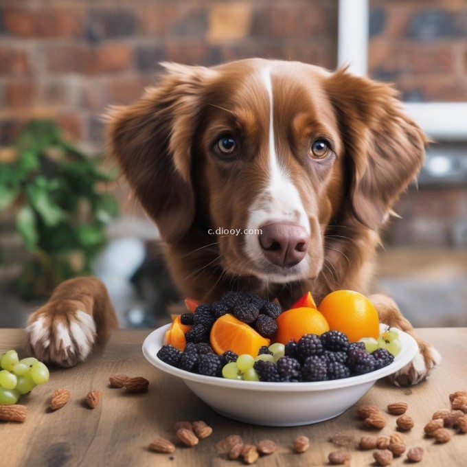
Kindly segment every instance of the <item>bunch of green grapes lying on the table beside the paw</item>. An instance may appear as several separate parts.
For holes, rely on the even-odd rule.
[[[49,380],[49,369],[37,358],[19,360],[16,350],[0,356],[0,405],[16,404],[21,394]]]

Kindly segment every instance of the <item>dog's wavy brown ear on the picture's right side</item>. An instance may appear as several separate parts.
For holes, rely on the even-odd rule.
[[[326,89],[352,165],[352,211],[376,230],[422,167],[426,137],[405,115],[389,84],[340,69],[328,78]]]

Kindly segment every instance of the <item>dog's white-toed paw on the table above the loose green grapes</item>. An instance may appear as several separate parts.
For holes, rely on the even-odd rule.
[[[25,348],[40,361],[73,367],[89,355],[95,337],[94,319],[79,302],[52,302],[31,315]]]

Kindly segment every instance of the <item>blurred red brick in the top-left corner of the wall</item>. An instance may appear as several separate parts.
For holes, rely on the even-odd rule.
[[[20,37],[70,37],[84,30],[85,11],[81,8],[5,8],[5,30]]]

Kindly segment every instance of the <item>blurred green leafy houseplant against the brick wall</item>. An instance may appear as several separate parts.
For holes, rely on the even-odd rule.
[[[25,299],[47,297],[62,280],[91,273],[106,243],[117,203],[106,192],[114,176],[62,137],[53,122],[32,121],[0,162],[0,213],[13,210],[30,255],[16,288]]]

